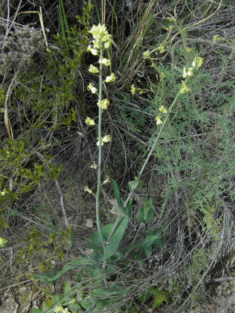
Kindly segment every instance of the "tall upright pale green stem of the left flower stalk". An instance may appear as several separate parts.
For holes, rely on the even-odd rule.
[[[102,61],[103,49],[100,48],[100,61]],[[99,101],[102,100],[102,63],[99,66]],[[98,123],[98,134],[99,134],[99,160],[98,160],[98,182],[97,182],[97,192],[96,192],[96,223],[98,227],[99,238],[101,240],[102,246],[105,252],[105,243],[100,229],[99,221],[99,192],[101,185],[101,160],[102,160],[102,146],[101,146],[101,121],[102,121],[102,109],[99,107],[99,123]]]

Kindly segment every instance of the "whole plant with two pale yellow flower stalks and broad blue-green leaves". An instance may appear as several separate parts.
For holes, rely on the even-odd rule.
[[[136,177],[133,181],[129,181],[129,195],[126,198],[126,201],[123,203],[121,199],[121,194],[118,189],[118,185],[114,179],[105,178],[103,182],[101,182],[101,160],[102,160],[102,146],[105,143],[112,144],[112,138],[109,134],[105,134],[102,137],[101,130],[101,121],[102,121],[102,112],[107,110],[109,106],[109,101],[104,98],[102,99],[102,85],[104,82],[111,83],[114,82],[116,77],[114,73],[110,73],[104,80],[102,79],[102,67],[107,66],[111,67],[111,60],[103,58],[103,51],[108,49],[109,46],[113,43],[111,36],[108,34],[105,25],[98,24],[98,26],[93,26],[90,33],[93,36],[92,43],[88,46],[87,51],[92,53],[94,56],[99,57],[98,64],[99,69],[95,65],[91,65],[89,71],[91,73],[99,73],[99,89],[94,87],[94,83],[90,83],[88,86],[88,90],[91,91],[94,95],[97,95],[97,107],[98,107],[98,138],[96,145],[98,146],[98,164],[93,164],[91,166],[92,169],[97,170],[97,189],[96,192],[93,192],[88,186],[85,186],[85,191],[94,195],[96,199],[96,224],[97,231],[95,231],[90,239],[89,239],[89,249],[92,252],[88,254],[84,251],[79,245],[76,244],[75,234],[71,232],[71,246],[75,246],[80,251],[85,254],[85,256],[81,256],[79,258],[71,260],[69,264],[67,264],[58,274],[49,272],[44,274],[37,274],[37,278],[43,279],[44,282],[52,283],[56,279],[58,279],[62,274],[64,274],[67,270],[73,267],[80,267],[80,272],[78,272],[78,280],[81,286],[86,286],[87,278],[90,276],[96,285],[96,289],[90,289],[89,293],[84,291],[81,287],[78,288],[77,294],[79,298],[79,303],[77,303],[77,307],[80,310],[86,309],[86,312],[99,311],[101,308],[106,310],[106,307],[111,305],[115,305],[121,301],[122,296],[125,294],[139,292],[140,290],[135,284],[130,284],[128,286],[125,285],[125,267],[124,264],[129,265],[131,260],[138,260],[141,264],[141,253],[145,255],[146,258],[150,258],[152,254],[152,245],[157,244],[159,249],[163,248],[163,244],[161,241],[161,232],[167,227],[167,224],[162,229],[152,229],[147,232],[146,238],[139,244],[136,243],[136,239],[141,230],[141,226],[143,223],[149,224],[153,220],[154,216],[154,202],[151,198],[150,186],[149,186],[149,199],[143,198],[144,206],[141,207],[136,215],[137,223],[139,223],[139,228],[136,232],[135,238],[133,239],[131,245],[124,248],[124,250],[117,251],[119,243],[125,233],[128,221],[130,219],[130,215],[132,212],[132,199],[134,191],[139,191],[143,186],[143,181],[141,180],[141,174],[152,155],[155,146],[159,140],[159,137],[164,129],[164,125],[169,117],[170,112],[172,111],[177,99],[180,94],[184,94],[188,92],[190,89],[187,85],[188,79],[193,76],[193,72],[202,66],[203,59],[196,57],[193,60],[192,67],[183,70],[183,77],[186,81],[182,82],[182,87],[177,93],[173,103],[170,105],[168,109],[166,109],[163,105],[158,108],[158,110],[165,114],[165,118],[161,115],[156,117],[156,123],[160,126],[160,130],[158,135],[154,141],[151,151],[149,152],[145,162],[141,168],[141,171],[138,171],[138,177]],[[163,49],[163,47],[162,47]],[[145,57],[151,59],[150,52],[145,53]],[[161,78],[164,79],[164,75],[161,74]],[[135,87],[132,87],[133,93],[136,91]],[[86,124],[95,126],[95,122],[90,117],[86,118]],[[114,194],[116,201],[118,203],[119,213],[117,220],[114,224],[108,224],[105,226],[100,225],[100,208],[99,208],[99,195],[100,195],[100,187],[102,184],[106,184],[109,181],[112,181]],[[138,252],[136,250],[138,249]],[[119,264],[121,267],[119,268]],[[112,273],[116,273],[118,270],[117,276],[118,280],[115,281],[115,278],[111,278]],[[85,274],[86,272],[86,274]],[[79,286],[80,286],[79,285]],[[90,285],[88,285],[90,286]],[[90,287],[89,287],[90,288]],[[140,296],[140,300],[144,301],[145,295],[150,294],[153,289],[150,286],[147,286],[145,291],[142,291],[143,297]],[[154,291],[156,292],[156,290]],[[158,291],[163,295],[162,291]],[[169,299],[167,294],[165,294],[164,300],[168,303]],[[122,307],[123,310],[130,310],[129,305],[126,307]],[[72,309],[70,308],[72,311]],[[57,305],[54,309],[54,312],[66,312],[62,306]],[[73,311],[72,311],[73,312]],[[75,311],[74,311],[75,312]],[[76,311],[77,312],[77,311]],[[80,311],[79,311],[80,312]],[[111,311],[110,311],[111,312]]]

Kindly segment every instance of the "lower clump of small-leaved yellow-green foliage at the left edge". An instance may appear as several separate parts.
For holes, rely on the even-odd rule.
[[[34,163],[34,170],[27,168],[25,163],[32,156],[32,147],[23,138],[3,141],[0,150],[0,194],[1,211],[9,208],[10,203],[40,184],[40,179],[57,179],[63,166],[56,168],[50,161],[51,157],[45,152],[43,165]],[[18,178],[18,179],[16,179]],[[10,181],[10,185],[7,183]]]

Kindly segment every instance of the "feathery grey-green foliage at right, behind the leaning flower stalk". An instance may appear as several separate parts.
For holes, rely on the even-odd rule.
[[[185,54],[190,65],[196,53],[193,49],[186,52],[184,47],[177,47],[172,54],[172,62],[183,69],[187,65],[182,63],[182,55]],[[221,66],[226,67],[225,61]],[[182,71],[176,71],[174,67],[167,68],[160,63],[156,69],[160,76],[164,73],[164,79],[158,85],[152,82],[149,85],[155,97],[150,100],[147,112],[155,116],[159,114],[162,104],[169,109],[168,103],[177,94],[179,80],[182,79]],[[192,78],[187,83],[190,91],[180,94],[161,134],[161,144],[154,149],[158,158],[155,170],[159,175],[169,175],[167,191],[163,194],[163,210],[176,191],[187,191],[192,210],[197,213],[200,211],[203,217],[201,221],[216,238],[221,221],[214,220],[211,208],[224,206],[221,195],[230,189],[226,182],[232,183],[234,175],[235,129],[228,120],[228,112],[235,112],[235,89],[231,82],[224,81],[217,90],[221,88],[228,92],[217,94],[216,89],[211,90],[213,105],[209,107],[202,95],[207,93],[208,85],[212,85],[210,73],[198,70]],[[156,129],[153,129],[152,134],[156,134]],[[233,195],[230,194],[232,199]]]

